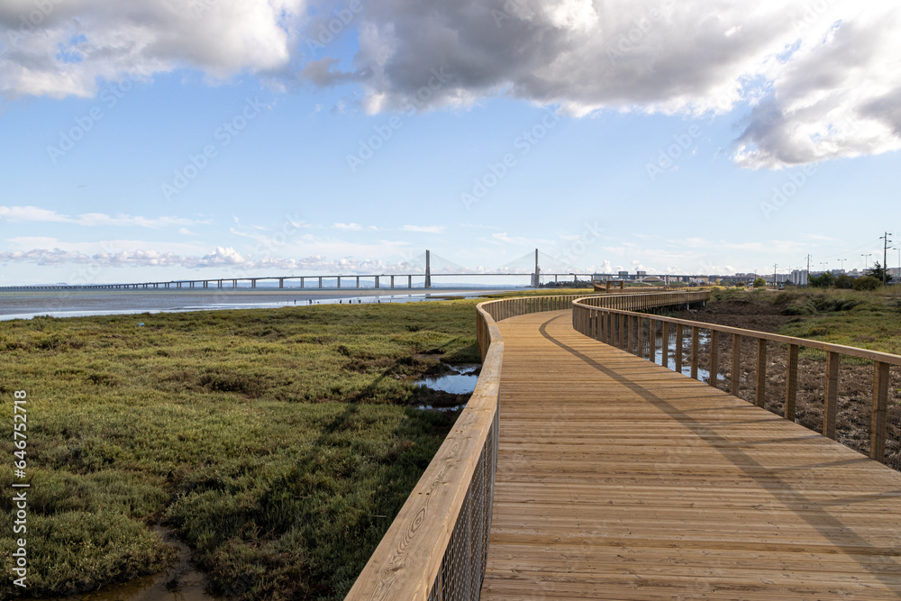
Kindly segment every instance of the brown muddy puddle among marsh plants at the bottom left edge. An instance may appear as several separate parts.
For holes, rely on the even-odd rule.
[[[191,563],[191,550],[164,528],[154,528],[165,542],[177,547],[176,564],[165,572],[135,578],[121,585],[102,587],[73,596],[44,597],[39,601],[224,601],[227,597],[208,595],[204,575]]]

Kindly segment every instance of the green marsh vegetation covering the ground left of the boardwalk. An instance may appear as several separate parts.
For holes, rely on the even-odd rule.
[[[475,304],[0,322],[0,394],[28,394],[27,593],[159,571],[162,524],[216,593],[342,598],[456,418],[410,378],[478,362]]]

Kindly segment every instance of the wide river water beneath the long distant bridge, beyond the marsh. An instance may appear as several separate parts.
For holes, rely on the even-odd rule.
[[[86,290],[0,292],[0,320],[83,317],[141,313],[181,313],[222,309],[267,309],[283,306],[411,303],[443,297],[475,298],[499,290],[432,288],[430,292],[398,293],[388,289],[340,290],[229,290],[227,288],[173,290]]]

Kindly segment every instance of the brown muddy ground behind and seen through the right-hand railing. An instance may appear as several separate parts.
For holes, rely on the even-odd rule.
[[[781,314],[782,307],[769,299],[740,297],[708,304],[699,310],[682,311],[680,319],[717,323],[760,332],[778,332],[803,316]],[[702,331],[702,335],[706,332]],[[691,356],[690,335],[685,336],[685,360]],[[732,382],[732,336],[720,336],[719,388],[729,391]],[[766,408],[782,415],[785,405],[787,347],[769,342],[767,351]],[[710,367],[709,341],[700,348],[699,367]],[[756,397],[757,341],[742,341],[742,373],[739,396],[754,402]],[[823,432],[825,353],[802,349],[799,358],[796,423],[816,432]],[[869,456],[869,436],[873,395],[873,364],[871,361],[844,358],[839,369],[839,412],[836,417],[836,438],[855,451]],[[889,382],[888,431],[886,442],[887,465],[901,469],[901,369],[893,367]]]

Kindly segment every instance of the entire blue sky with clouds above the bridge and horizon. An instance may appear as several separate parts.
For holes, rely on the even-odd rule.
[[[901,247],[898,31],[839,0],[2,0],[0,286],[861,269]]]

